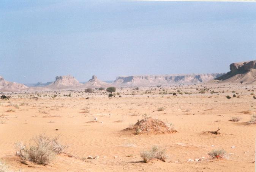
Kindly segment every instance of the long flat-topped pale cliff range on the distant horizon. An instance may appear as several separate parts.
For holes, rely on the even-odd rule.
[[[210,81],[216,77],[220,77],[223,74],[224,73],[118,76],[112,85],[119,87],[139,87],[154,85],[200,84]]]

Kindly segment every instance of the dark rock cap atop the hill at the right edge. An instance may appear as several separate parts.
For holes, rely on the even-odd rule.
[[[250,69],[256,69],[256,60],[232,63],[229,68],[232,73],[245,73]]]

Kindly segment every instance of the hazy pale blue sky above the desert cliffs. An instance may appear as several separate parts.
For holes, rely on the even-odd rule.
[[[221,73],[256,60],[256,3],[1,0],[0,75]]]

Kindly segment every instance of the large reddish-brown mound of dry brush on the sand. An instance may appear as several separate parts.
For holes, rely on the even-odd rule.
[[[136,124],[134,124],[131,127],[128,127],[125,130],[134,130],[135,134],[141,134],[141,133],[172,133],[172,132],[177,132],[171,127],[171,124],[167,124],[166,122],[160,121],[159,119],[155,118],[144,118],[141,119],[140,121]]]

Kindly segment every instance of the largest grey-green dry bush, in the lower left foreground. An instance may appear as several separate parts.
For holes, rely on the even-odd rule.
[[[17,155],[22,158],[22,162],[32,161],[37,164],[49,164],[54,160],[55,155],[60,154],[66,149],[58,143],[58,138],[49,138],[44,134],[33,138],[33,145],[26,146],[25,144],[16,143]]]

